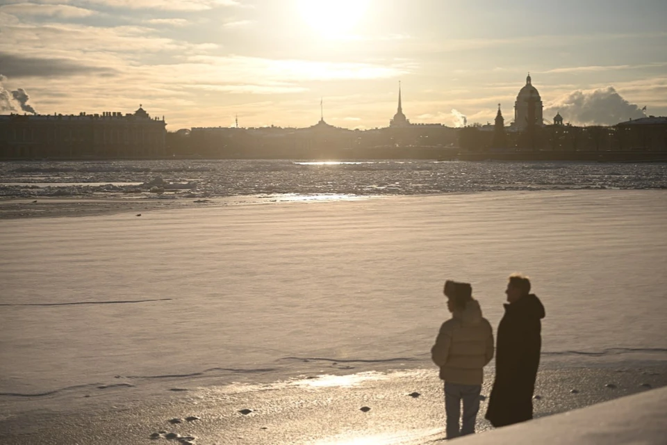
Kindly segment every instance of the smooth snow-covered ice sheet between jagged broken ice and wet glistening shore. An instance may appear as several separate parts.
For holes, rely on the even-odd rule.
[[[545,366],[664,361],[666,218],[542,191],[1,220],[0,399],[430,367],[445,278],[497,326],[515,271]]]

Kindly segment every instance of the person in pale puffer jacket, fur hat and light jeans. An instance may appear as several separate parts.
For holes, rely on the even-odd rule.
[[[472,298],[470,284],[447,280],[444,293],[452,318],[440,327],[431,358],[445,381],[447,439],[454,439],[475,432],[484,366],[493,358],[493,329]]]

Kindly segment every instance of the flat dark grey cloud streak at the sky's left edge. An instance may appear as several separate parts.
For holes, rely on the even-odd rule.
[[[110,68],[92,67],[65,58],[35,58],[0,53],[0,74],[11,77],[63,77],[76,74],[109,74]]]

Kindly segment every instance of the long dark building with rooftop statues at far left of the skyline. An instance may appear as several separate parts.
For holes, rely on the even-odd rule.
[[[154,158],[165,155],[165,120],[134,113],[0,115],[0,157]]]

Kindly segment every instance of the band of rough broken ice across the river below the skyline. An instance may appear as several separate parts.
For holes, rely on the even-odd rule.
[[[177,199],[579,188],[667,188],[667,164],[250,160],[0,163],[0,197]]]

